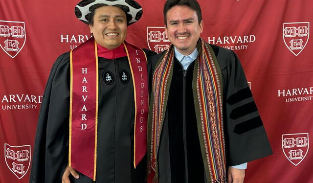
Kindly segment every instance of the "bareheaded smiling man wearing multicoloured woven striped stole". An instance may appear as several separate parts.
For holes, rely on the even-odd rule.
[[[196,0],[167,0],[172,43],[150,57],[149,183],[243,183],[248,161],[270,155],[236,54],[207,44]]]

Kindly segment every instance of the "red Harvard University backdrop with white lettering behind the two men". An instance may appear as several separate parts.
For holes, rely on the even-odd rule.
[[[50,68],[91,36],[78,1],[0,0],[0,183],[28,183]],[[127,41],[165,50],[165,0],[138,2]],[[238,54],[273,149],[248,163],[245,183],[313,183],[313,0],[199,2],[202,38]]]

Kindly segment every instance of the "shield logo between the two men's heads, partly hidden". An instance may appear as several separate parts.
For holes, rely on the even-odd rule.
[[[171,44],[165,34],[164,27],[147,27],[147,41],[150,50],[156,53],[168,49]]]

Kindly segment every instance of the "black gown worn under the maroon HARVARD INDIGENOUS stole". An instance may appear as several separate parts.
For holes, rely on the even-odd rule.
[[[154,54],[150,50],[145,52],[148,57]],[[98,63],[96,182],[144,183],[146,157],[136,169],[133,163],[134,87],[128,59],[122,57],[109,60],[98,57]],[[106,81],[107,74],[112,78],[110,82]],[[69,52],[67,52],[54,63],[45,88],[36,132],[30,183],[61,183],[68,163],[69,81]],[[70,176],[70,181],[93,183],[82,174],[78,180]]]

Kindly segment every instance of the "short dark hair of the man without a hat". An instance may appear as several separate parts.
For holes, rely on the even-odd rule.
[[[167,0],[164,4],[163,9],[164,23],[166,26],[167,26],[166,13],[174,6],[188,6],[189,8],[195,10],[197,12],[198,22],[199,23],[201,22],[202,20],[201,8],[197,0]]]

